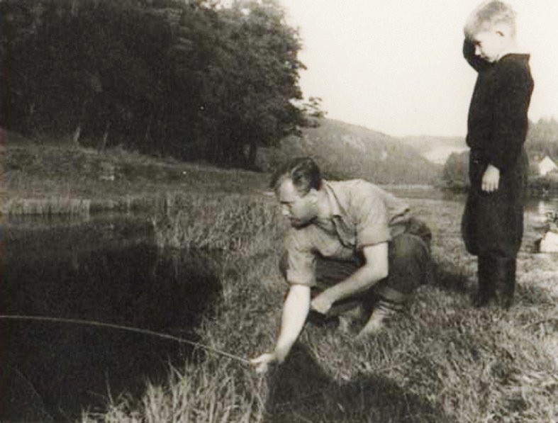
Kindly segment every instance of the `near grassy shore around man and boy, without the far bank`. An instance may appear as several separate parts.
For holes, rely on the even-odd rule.
[[[143,398],[116,400],[107,414],[83,421],[555,422],[555,257],[529,252],[535,231],[528,227],[516,305],[507,312],[476,310],[470,298],[475,261],[458,232],[462,206],[410,201],[433,229],[437,281],[420,288],[389,330],[357,342],[334,324],[308,323],[286,363],[265,377],[209,354],[201,363],[169,369],[169,382],[148,385]],[[269,198],[228,196],[219,204],[206,203],[206,213],[226,225],[205,233],[216,247],[223,248],[224,239],[230,245],[223,293],[199,335],[206,345],[247,359],[272,349],[277,335],[286,288],[277,271],[281,222]],[[191,227],[189,219],[177,215],[175,223]],[[198,233],[160,232],[181,243]]]

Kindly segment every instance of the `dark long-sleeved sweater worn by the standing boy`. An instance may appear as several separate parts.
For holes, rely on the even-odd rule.
[[[467,145],[479,162],[505,173],[517,163],[528,130],[533,90],[529,55],[509,54],[489,63],[465,41],[463,54],[479,76],[469,106]]]

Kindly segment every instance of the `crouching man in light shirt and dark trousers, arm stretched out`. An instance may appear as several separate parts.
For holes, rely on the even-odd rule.
[[[370,312],[359,337],[379,332],[430,268],[430,230],[378,186],[326,181],[302,157],[279,169],[272,187],[291,223],[281,263],[290,288],[274,351],[251,361],[260,373],[284,361],[310,310],[330,316],[356,305]]]

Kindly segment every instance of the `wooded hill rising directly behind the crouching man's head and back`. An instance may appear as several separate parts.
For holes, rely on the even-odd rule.
[[[311,156],[330,179],[362,178],[376,184],[433,184],[441,167],[396,137],[339,120],[321,119],[279,147],[260,149],[257,165],[272,171],[292,157]]]

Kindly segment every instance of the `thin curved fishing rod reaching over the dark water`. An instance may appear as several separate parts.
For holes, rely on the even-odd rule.
[[[48,316],[0,315],[0,319],[4,319],[4,320],[35,320],[35,321],[39,321],[39,322],[58,322],[58,323],[70,323],[70,324],[73,324],[73,325],[110,327],[111,329],[119,329],[119,330],[124,330],[124,331],[127,331],[127,332],[135,332],[135,333],[138,333],[138,334],[150,335],[152,337],[158,337],[158,338],[162,338],[162,339],[170,339],[172,341],[179,342],[181,344],[189,344],[189,345],[196,346],[198,348],[204,349],[206,351],[210,351],[212,353],[228,357],[229,359],[240,361],[241,363],[250,364],[250,361],[248,361],[247,359],[242,359],[242,357],[235,356],[234,354],[230,354],[226,351],[221,351],[220,349],[216,349],[216,348],[213,348],[211,346],[200,344],[199,342],[189,341],[188,339],[175,337],[174,335],[164,334],[164,333],[161,333],[161,332],[155,332],[155,331],[152,331],[150,329],[141,329],[139,327],[116,325],[114,323],[96,322],[95,320],[67,319],[65,317],[48,317]]]

